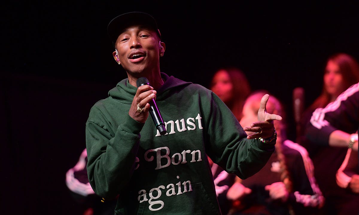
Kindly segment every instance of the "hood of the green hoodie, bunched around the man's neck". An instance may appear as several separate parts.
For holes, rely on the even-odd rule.
[[[156,89],[157,91],[156,101],[164,100],[165,98],[170,96],[172,92],[179,91],[184,87],[192,84],[192,82],[182,81],[173,76],[168,76],[163,72],[161,72],[161,77],[164,81],[164,84],[159,89]],[[129,83],[128,78],[125,78],[122,81],[118,82],[116,87],[114,87],[108,92],[108,96],[118,100],[121,103],[131,104],[134,95],[136,94],[136,91],[137,91],[137,87],[132,86]]]

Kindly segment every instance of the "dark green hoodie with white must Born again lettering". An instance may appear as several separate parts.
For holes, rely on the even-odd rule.
[[[128,112],[137,88],[124,79],[90,110],[87,171],[99,196],[118,197],[115,214],[220,214],[207,155],[229,173],[247,178],[274,152],[248,140],[212,91],[161,73],[156,104],[166,124],[160,135]]]

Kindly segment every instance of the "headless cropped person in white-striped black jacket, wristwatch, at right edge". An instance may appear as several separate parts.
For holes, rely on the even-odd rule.
[[[327,176],[326,180],[323,178],[324,182],[333,184],[324,184],[327,188],[327,198],[330,200],[326,204],[327,214],[357,215],[359,213],[358,130],[359,82],[350,86],[325,108],[317,108],[305,130],[309,140],[333,149],[333,154],[344,151],[345,159],[341,163],[336,157],[332,157],[333,154],[326,154],[326,157],[323,155],[322,162],[326,168],[323,164],[321,166],[323,169],[318,170],[331,174],[336,172],[336,175]],[[333,160],[339,164],[330,163]],[[320,161],[318,163],[322,164]],[[339,169],[337,165],[340,166]]]

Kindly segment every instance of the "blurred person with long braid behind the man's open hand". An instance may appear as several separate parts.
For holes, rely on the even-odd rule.
[[[255,91],[247,98],[242,126],[250,126],[257,119],[258,102],[265,94],[269,92]],[[286,139],[286,117],[281,102],[270,95],[266,108],[283,118],[274,122],[278,133],[276,151],[258,173],[239,179],[230,187],[227,197],[233,200],[233,208],[229,214],[320,214],[325,199],[306,149]]]

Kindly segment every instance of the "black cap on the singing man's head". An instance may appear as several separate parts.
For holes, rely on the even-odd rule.
[[[115,46],[118,35],[120,35],[123,30],[132,25],[143,25],[147,28],[150,28],[157,32],[159,38],[161,38],[156,20],[153,18],[153,16],[144,12],[135,11],[116,16],[111,20],[111,22],[108,23],[107,34],[112,40],[113,46]]]

